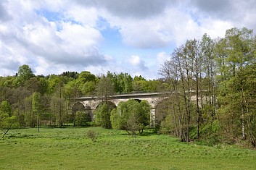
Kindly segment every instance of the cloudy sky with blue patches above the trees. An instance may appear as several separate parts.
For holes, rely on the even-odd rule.
[[[89,71],[160,77],[186,40],[256,30],[256,0],[0,0],[0,76]]]

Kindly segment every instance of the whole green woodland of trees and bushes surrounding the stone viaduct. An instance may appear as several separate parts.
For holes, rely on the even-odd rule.
[[[135,135],[150,128],[149,104],[127,101],[112,106],[117,93],[170,92],[156,107],[155,132],[180,141],[256,147],[256,36],[246,27],[226,30],[223,38],[188,40],[162,64],[158,80],[128,73],[63,72],[34,75],[22,65],[0,77],[0,127],[101,126]],[[93,113],[75,107],[80,96],[102,97]],[[3,137],[4,137],[3,135]]]

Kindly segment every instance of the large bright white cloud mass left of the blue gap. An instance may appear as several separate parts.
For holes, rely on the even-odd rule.
[[[96,9],[75,8],[76,6],[71,4],[70,7],[73,8],[70,8],[70,12],[67,13],[71,14],[68,17],[73,17],[75,22],[70,18],[49,21],[47,18],[49,16],[44,16],[37,11],[44,8],[50,12],[56,10],[56,5],[49,8],[54,3],[17,2],[9,2],[8,8],[12,20],[0,25],[0,40],[4,42],[4,46],[1,45],[0,48],[0,54],[2,54],[0,58],[1,61],[5,61],[1,64],[5,72],[9,68],[12,74],[17,72],[17,66],[30,64],[35,67],[36,74],[41,75],[51,72],[51,69],[59,72],[73,66],[83,68],[107,62],[107,57],[99,53],[103,37],[100,31],[94,28],[97,15],[94,14],[91,19],[82,20],[82,17],[78,18],[74,12],[75,9],[78,10],[77,12],[81,11],[84,14],[83,17],[86,17],[86,14],[92,16],[91,12],[95,13]],[[59,1],[55,3],[59,4]],[[62,7],[65,8],[65,5]],[[63,17],[64,13],[59,15]]]

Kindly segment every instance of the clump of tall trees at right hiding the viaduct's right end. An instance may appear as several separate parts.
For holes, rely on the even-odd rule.
[[[181,141],[256,145],[256,37],[236,27],[224,38],[189,40],[162,64],[173,92],[158,106],[161,132]]]

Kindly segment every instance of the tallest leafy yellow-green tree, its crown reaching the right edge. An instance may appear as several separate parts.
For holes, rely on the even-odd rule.
[[[244,69],[255,62],[255,39],[252,30],[236,27],[226,31],[225,38],[218,43],[223,47],[226,54],[216,53],[220,70],[220,83],[218,101],[220,102],[220,113],[222,123],[225,124],[227,132],[232,137],[241,135],[246,139],[245,119],[247,114],[247,100],[244,97],[244,85],[246,75]],[[226,119],[229,119],[228,123]],[[237,131],[240,127],[241,131]],[[239,133],[237,133],[239,132]]]

